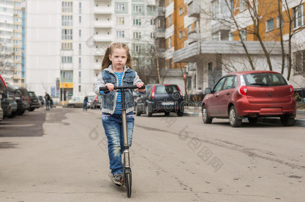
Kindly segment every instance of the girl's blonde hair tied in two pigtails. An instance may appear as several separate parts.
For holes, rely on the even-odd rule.
[[[132,69],[132,60],[131,60],[131,56],[129,54],[129,48],[125,43],[112,43],[111,45],[109,45],[105,51],[104,57],[102,59],[101,62],[101,70],[107,68],[110,64],[112,64],[112,62],[109,59],[109,55],[112,54],[114,48],[123,48],[126,50],[126,55],[127,55],[127,61],[126,61],[126,65]]]

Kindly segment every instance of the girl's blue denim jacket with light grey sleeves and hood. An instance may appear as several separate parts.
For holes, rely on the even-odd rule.
[[[142,82],[136,71],[130,69],[126,65],[124,66],[123,76],[122,76],[122,85],[135,85],[138,82]],[[116,91],[109,91],[107,93],[103,93],[103,91],[99,92],[99,87],[105,86],[106,83],[112,83],[114,86],[118,86],[118,79],[115,73],[112,70],[112,65],[109,65],[107,68],[100,71],[97,80],[94,85],[94,92],[97,95],[102,95],[102,108],[101,111],[108,114],[113,114],[116,106]],[[146,92],[145,92],[146,93]],[[145,93],[141,93],[144,95]],[[133,95],[132,89],[128,89],[124,93],[125,97],[125,107],[126,113],[133,111],[134,103],[133,103]]]

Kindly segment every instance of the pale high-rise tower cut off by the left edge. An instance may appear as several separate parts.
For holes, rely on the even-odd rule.
[[[0,74],[12,83],[13,76],[13,1],[0,0]]]

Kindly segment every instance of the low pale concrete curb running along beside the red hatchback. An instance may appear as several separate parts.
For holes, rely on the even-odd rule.
[[[297,110],[297,114],[305,114],[305,110]],[[183,116],[191,116],[191,117],[201,117],[201,113],[199,112],[185,112]],[[258,118],[257,122],[259,123],[268,123],[268,124],[276,124],[281,125],[279,118]],[[293,126],[305,126],[305,119],[295,119]]]

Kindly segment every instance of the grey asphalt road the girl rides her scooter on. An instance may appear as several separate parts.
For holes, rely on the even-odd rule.
[[[2,202],[300,202],[305,128],[135,117],[132,195],[108,178],[100,112],[38,109],[0,122]]]

